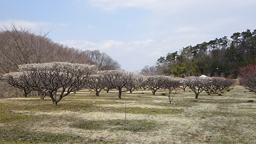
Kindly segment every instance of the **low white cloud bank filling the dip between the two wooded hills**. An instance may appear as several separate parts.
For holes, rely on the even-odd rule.
[[[170,43],[154,41],[153,39],[130,42],[105,40],[100,43],[86,40],[68,40],[60,43],[82,50],[98,49],[101,52],[106,52],[120,62],[124,69],[128,68],[129,71],[139,70],[144,65],[153,65],[160,56],[165,55],[167,52],[173,52],[168,47]]]

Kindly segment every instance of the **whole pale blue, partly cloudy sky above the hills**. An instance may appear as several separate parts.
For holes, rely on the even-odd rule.
[[[100,50],[139,71],[160,56],[256,29],[256,0],[0,0],[0,27],[50,31],[54,42]]]

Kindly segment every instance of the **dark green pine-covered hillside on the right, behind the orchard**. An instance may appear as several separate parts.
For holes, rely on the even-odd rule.
[[[256,61],[256,30],[234,33],[228,39],[216,38],[179,52],[158,58],[155,66],[145,66],[143,75],[175,75],[178,77],[208,75],[236,78],[238,67]]]

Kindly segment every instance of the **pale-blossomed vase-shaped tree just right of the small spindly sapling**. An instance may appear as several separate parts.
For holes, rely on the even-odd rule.
[[[196,99],[198,98],[198,95],[212,82],[210,77],[190,76],[186,77],[186,79],[186,85],[196,94]]]

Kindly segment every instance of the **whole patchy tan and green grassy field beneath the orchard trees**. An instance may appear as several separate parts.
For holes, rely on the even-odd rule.
[[[189,91],[180,91],[173,104],[148,90],[123,93],[123,99],[114,90],[79,91],[56,107],[49,97],[0,99],[0,143],[256,143],[256,103],[246,102],[256,101],[255,93],[233,86],[222,96],[202,92],[192,102]]]

